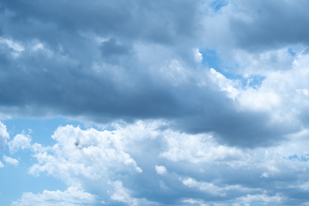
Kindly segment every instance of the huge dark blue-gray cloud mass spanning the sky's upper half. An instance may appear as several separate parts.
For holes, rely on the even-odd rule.
[[[214,132],[223,143],[273,144],[299,131],[307,116],[296,117],[299,124],[276,123],[270,112],[239,110],[192,54],[208,45],[250,53],[308,44],[306,2],[263,2],[235,1],[229,33],[219,35],[216,22],[205,26],[219,15],[206,9],[208,1],[3,0],[2,40],[23,49],[0,45],[1,112],[104,123],[160,118],[182,131]]]

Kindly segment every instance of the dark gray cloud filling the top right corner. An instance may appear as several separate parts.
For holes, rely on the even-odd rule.
[[[237,44],[250,51],[295,43],[309,44],[309,3],[306,1],[253,0],[233,2],[242,13],[230,19]]]

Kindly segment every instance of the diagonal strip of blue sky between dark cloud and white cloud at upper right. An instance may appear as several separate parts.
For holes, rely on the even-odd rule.
[[[242,75],[238,75],[235,72],[235,68],[226,67],[222,64],[219,55],[215,50],[205,49],[201,50],[200,53],[203,55],[202,64],[209,67],[214,68],[217,72],[220,72],[227,79],[237,81],[241,84],[242,87],[252,87],[258,88],[261,86],[265,77],[260,75],[250,75],[248,77],[244,77]]]

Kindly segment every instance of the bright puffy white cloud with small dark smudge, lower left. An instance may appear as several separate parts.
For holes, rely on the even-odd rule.
[[[60,126],[52,135],[57,144],[52,147],[33,145],[39,164],[33,165],[29,173],[47,172],[69,185],[79,185],[83,181],[106,182],[110,175],[122,172],[143,172],[129,154],[119,149],[113,133]]]

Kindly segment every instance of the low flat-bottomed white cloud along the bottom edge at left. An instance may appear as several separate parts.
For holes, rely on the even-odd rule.
[[[20,200],[13,202],[12,206],[94,206],[97,203],[96,196],[69,187],[66,191],[48,191],[42,193],[23,193]]]

